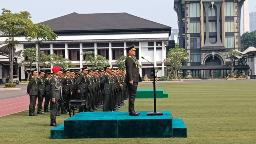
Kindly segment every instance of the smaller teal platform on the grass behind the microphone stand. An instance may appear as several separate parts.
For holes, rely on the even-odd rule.
[[[137,90],[136,98],[154,98],[154,90]],[[156,89],[156,98],[168,98],[168,92],[163,92],[161,89]]]

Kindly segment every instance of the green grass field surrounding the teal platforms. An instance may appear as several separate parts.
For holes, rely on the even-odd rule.
[[[157,111],[182,118],[188,138],[102,138],[51,140],[50,113],[29,117],[28,111],[0,118],[0,143],[138,144],[138,143],[256,143],[256,82],[156,84],[168,92],[157,99]],[[138,89],[152,89],[152,84]],[[120,111],[128,111],[128,101]],[[153,99],[136,99],[136,111],[154,111]],[[58,116],[62,124],[69,116]],[[98,128],[100,129],[100,128]]]

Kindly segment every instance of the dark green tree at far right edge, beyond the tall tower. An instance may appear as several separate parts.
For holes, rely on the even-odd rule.
[[[245,32],[241,36],[241,51],[246,50],[250,46],[256,46],[256,31]]]

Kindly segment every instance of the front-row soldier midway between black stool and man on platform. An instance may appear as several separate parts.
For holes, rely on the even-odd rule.
[[[110,65],[109,65],[110,66]],[[112,96],[114,95],[114,88],[112,86],[112,76],[111,68],[106,66],[105,73],[102,76],[102,80],[100,84],[103,86],[102,95],[103,95],[103,112],[111,112],[112,111]]]

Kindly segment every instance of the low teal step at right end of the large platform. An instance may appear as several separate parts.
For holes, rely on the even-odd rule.
[[[172,119],[172,132],[173,132],[174,138],[187,137],[187,127],[185,126],[182,119],[178,119],[178,118]]]

